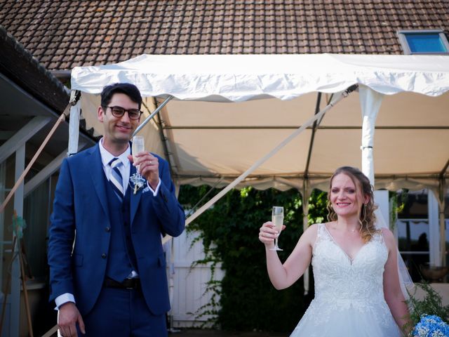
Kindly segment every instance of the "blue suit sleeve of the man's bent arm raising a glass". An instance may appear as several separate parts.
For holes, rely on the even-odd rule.
[[[184,209],[177,201],[175,185],[170,177],[168,162],[164,159],[159,159],[159,163],[161,186],[158,194],[154,197],[154,209],[162,224],[161,230],[172,237],[177,237],[185,228]]]

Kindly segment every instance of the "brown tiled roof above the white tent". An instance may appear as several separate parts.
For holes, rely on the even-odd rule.
[[[398,29],[449,28],[448,0],[0,0],[49,70],[147,54],[403,53]]]

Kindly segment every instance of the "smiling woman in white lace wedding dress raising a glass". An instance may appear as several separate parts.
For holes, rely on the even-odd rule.
[[[315,298],[290,337],[396,337],[408,323],[393,234],[375,229],[373,189],[358,169],[330,178],[329,223],[311,225],[285,263],[271,221],[260,227],[269,279],[285,289],[313,266]],[[400,329],[401,328],[401,329]]]

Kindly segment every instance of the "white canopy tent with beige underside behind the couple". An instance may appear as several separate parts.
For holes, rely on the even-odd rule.
[[[148,150],[165,154],[178,185],[223,187],[240,176],[237,187],[295,187],[307,199],[312,188],[326,190],[337,167],[350,165],[361,167],[373,185],[376,177],[377,189],[427,187],[443,209],[448,56],[141,55],[75,67],[72,90],[81,91],[78,107],[98,133],[98,94],[119,81],[138,86],[150,111],[170,100],[140,132]],[[358,93],[326,107],[355,84]]]

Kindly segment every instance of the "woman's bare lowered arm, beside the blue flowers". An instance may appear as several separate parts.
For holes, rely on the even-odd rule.
[[[408,307],[405,302],[401,290],[401,284],[399,283],[398,275],[398,250],[396,249],[396,243],[393,233],[387,228],[382,229],[385,244],[388,248],[388,260],[385,263],[384,270],[384,297],[387,302],[391,315],[393,315],[396,324],[401,329],[406,327],[409,322]]]

